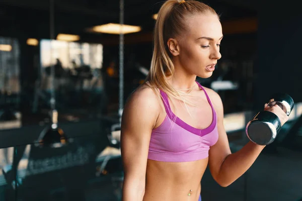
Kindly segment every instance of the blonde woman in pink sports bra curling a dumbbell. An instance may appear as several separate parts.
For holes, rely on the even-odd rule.
[[[263,150],[249,142],[231,153],[221,99],[195,81],[212,75],[222,37],[218,15],[203,3],[168,0],[161,7],[149,74],[122,116],[123,201],[201,200],[207,165],[228,186]],[[282,125],[288,120],[278,106],[266,110]]]

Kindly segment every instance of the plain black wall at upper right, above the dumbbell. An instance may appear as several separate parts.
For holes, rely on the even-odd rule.
[[[302,101],[302,60],[300,37],[302,13],[293,4],[263,1],[259,8],[258,60],[255,100],[262,107],[269,95],[286,92],[295,102]]]

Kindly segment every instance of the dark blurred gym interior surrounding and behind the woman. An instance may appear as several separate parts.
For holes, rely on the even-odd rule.
[[[0,200],[121,200],[120,109],[148,72],[162,2],[0,0]],[[203,2],[221,15],[224,38],[217,70],[198,81],[223,100],[232,151],[271,94],[295,105],[233,184],[206,170],[202,199],[302,200],[297,2]]]

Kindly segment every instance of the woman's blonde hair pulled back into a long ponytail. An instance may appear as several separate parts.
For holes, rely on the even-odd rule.
[[[161,7],[154,29],[154,50],[146,82],[153,88],[167,93],[169,98],[190,104],[184,97],[187,93],[175,90],[167,77],[174,74],[172,55],[168,51],[167,41],[186,30],[184,19],[188,15],[216,12],[209,6],[198,1],[168,0]],[[218,16],[218,15],[217,15]]]

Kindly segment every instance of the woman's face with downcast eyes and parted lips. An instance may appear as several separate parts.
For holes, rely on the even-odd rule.
[[[187,73],[208,78],[212,75],[217,60],[221,58],[221,24],[218,17],[212,14],[187,18],[186,23],[187,30],[177,40],[177,60]]]

